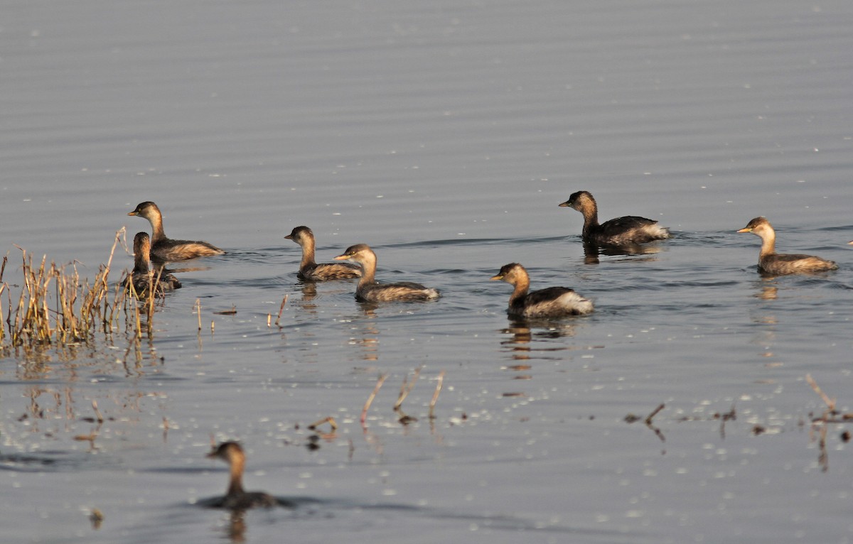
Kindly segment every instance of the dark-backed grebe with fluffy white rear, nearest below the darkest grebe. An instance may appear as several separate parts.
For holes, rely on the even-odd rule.
[[[514,286],[509,295],[507,313],[517,317],[566,317],[567,315],[586,315],[592,312],[593,305],[568,287],[546,287],[527,292],[530,276],[519,263],[504,264],[501,271],[490,280],[506,281]]]

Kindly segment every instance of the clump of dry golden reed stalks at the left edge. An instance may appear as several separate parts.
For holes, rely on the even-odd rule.
[[[34,263],[32,255],[15,246],[21,251],[23,277],[20,296],[13,303],[9,283],[3,281],[9,260],[8,256],[4,257],[0,265],[0,315],[5,313],[5,320],[0,322],[0,346],[16,348],[85,343],[99,331],[111,334],[119,328],[122,318],[125,331],[133,331],[138,338],[143,330],[141,304],[148,315],[145,329],[150,332],[155,290],[149,290],[147,298],[139,299],[133,292],[132,282],[130,292],[125,287],[124,278],[113,286],[109,283],[113,254],[124,234],[125,229],[115,234],[109,259],[99,267],[91,284],[88,279],[80,279],[76,262],[48,264],[44,256],[41,262]],[[8,304],[5,312],[4,293]]]

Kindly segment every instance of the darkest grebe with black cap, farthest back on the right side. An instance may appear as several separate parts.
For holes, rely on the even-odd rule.
[[[583,214],[582,238],[585,242],[603,246],[625,246],[642,244],[670,237],[670,229],[661,227],[657,221],[646,217],[625,216],[598,224],[598,205],[589,191],[577,191],[569,200],[560,204]]]

